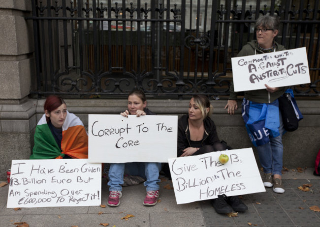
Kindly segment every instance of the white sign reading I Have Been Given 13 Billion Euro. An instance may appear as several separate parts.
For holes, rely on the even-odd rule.
[[[101,163],[88,163],[88,159],[12,160],[7,208],[100,204]]]

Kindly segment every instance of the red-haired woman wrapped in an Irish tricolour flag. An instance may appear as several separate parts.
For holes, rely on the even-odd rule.
[[[82,121],[66,110],[63,98],[50,95],[34,133],[30,159],[88,158],[88,134]]]

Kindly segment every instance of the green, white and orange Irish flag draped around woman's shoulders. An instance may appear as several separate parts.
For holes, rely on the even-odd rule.
[[[67,112],[62,130],[60,150],[43,114],[35,128],[30,159],[62,159],[64,154],[71,158],[88,158],[88,134],[79,117]]]

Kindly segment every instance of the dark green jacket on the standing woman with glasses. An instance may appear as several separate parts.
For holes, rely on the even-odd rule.
[[[284,46],[280,45],[279,43],[275,42],[276,45],[276,51],[284,51],[286,50]],[[255,52],[256,50],[256,52]],[[257,42],[256,40],[253,40],[251,42],[248,42],[241,51],[238,53],[237,57],[243,57],[243,56],[249,56],[249,55],[255,55],[255,54],[263,54],[258,48],[257,48]],[[274,93],[268,92],[266,89],[260,89],[260,90],[249,90],[244,92],[244,97],[250,101],[258,102],[258,103],[272,103],[277,98],[279,98],[286,90],[288,89],[288,86],[286,87],[279,87],[279,90],[277,90]],[[237,93],[234,91],[233,82],[231,82],[230,85],[230,96],[229,99],[236,100],[237,99]]]

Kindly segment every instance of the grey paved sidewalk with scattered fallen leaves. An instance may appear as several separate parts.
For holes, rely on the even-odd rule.
[[[143,184],[124,187],[118,207],[46,207],[6,208],[8,185],[0,188],[0,227],[14,227],[26,222],[30,227],[319,227],[320,177],[309,168],[300,173],[289,170],[283,175],[286,192],[276,194],[271,188],[266,192],[242,196],[249,210],[236,217],[217,214],[209,201],[177,205],[173,189],[166,189],[172,182],[166,178],[160,183],[159,203],[153,207],[142,204],[145,197]],[[309,192],[298,189],[312,184]],[[106,180],[102,180],[101,203],[107,204]],[[100,214],[99,214],[100,212]],[[101,213],[102,212],[102,213]],[[127,214],[134,215],[126,221]]]

